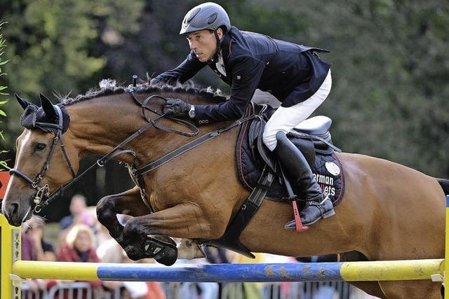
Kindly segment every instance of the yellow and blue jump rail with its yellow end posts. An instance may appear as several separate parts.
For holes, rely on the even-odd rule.
[[[449,196],[445,209],[445,260],[449,257]],[[449,285],[443,259],[347,263],[220,264],[163,267],[152,264],[62,263],[20,260],[20,228],[0,214],[1,298],[20,298],[21,279],[113,281],[385,281],[432,279]],[[445,292],[449,299],[449,291]]]

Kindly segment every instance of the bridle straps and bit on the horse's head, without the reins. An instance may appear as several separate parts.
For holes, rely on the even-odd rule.
[[[60,107],[56,106],[56,105],[53,105],[53,109],[55,109],[55,112],[58,113],[58,125],[56,125],[54,123],[36,122],[36,127],[39,127],[41,129],[42,128],[50,128],[50,129],[57,130],[55,133],[53,133],[53,134],[55,134],[55,138],[53,138],[53,143],[51,144],[50,153],[48,153],[47,160],[46,160],[45,164],[43,165],[41,172],[39,172],[39,174],[37,174],[34,177],[34,179],[31,179],[29,176],[27,176],[26,174],[21,172],[19,169],[13,168],[9,171],[10,174],[16,174],[16,175],[20,176],[22,179],[27,181],[32,186],[32,188],[37,190],[37,192],[33,198],[33,204],[35,204],[34,211],[36,213],[39,213],[39,211],[41,211],[41,207],[43,205],[41,203],[41,201],[43,200],[43,198],[47,198],[48,196],[50,196],[50,188],[48,187],[48,184],[40,186],[39,183],[40,183],[41,179],[43,178],[43,176],[46,174],[48,167],[50,166],[51,158],[53,158],[53,154],[55,153],[55,148],[56,148],[56,146],[58,146],[58,144],[60,144],[60,146],[61,146],[61,150],[62,150],[62,153],[64,154],[65,162],[67,162],[70,172],[72,172],[73,179],[76,177],[76,174],[72,167],[72,163],[70,162],[69,156],[67,155],[67,152],[65,151],[64,139],[62,139],[62,111],[61,111]]]

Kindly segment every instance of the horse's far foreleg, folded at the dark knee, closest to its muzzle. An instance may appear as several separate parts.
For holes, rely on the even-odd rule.
[[[97,204],[97,218],[109,230],[109,234],[116,239],[123,232],[123,225],[119,223],[117,214],[130,216],[143,216],[149,209],[142,202],[138,187],[123,193],[107,195]]]

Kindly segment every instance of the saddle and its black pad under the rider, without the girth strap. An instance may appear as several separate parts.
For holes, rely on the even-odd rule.
[[[267,165],[275,179],[267,190],[269,200],[286,202],[289,195],[281,167],[271,151],[263,144],[264,126],[274,113],[267,105],[250,105],[247,113],[260,117],[242,125],[236,146],[237,172],[241,184],[249,191],[257,186],[262,171]],[[332,120],[326,116],[315,116],[304,120],[287,134],[288,139],[300,149],[314,173],[321,189],[329,195],[334,206],[339,204],[344,193],[344,176],[342,165],[335,156],[340,148],[333,145],[329,129]],[[301,198],[301,194],[297,194]]]

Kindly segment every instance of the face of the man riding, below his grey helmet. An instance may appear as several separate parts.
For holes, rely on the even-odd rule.
[[[218,37],[222,37],[222,29],[217,30]],[[213,58],[215,50],[217,50],[217,39],[215,34],[210,30],[200,30],[187,34],[190,50],[194,50],[199,61],[206,62]]]

